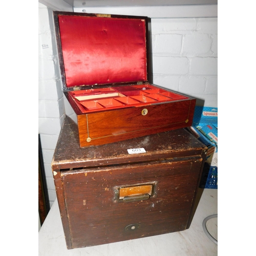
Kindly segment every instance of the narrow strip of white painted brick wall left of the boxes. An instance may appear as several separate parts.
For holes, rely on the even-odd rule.
[[[50,15],[49,15],[50,14]],[[65,106],[57,59],[57,50],[52,37],[54,31],[51,10],[38,6],[38,132],[40,133],[50,205],[56,199],[51,162],[58,140]]]

